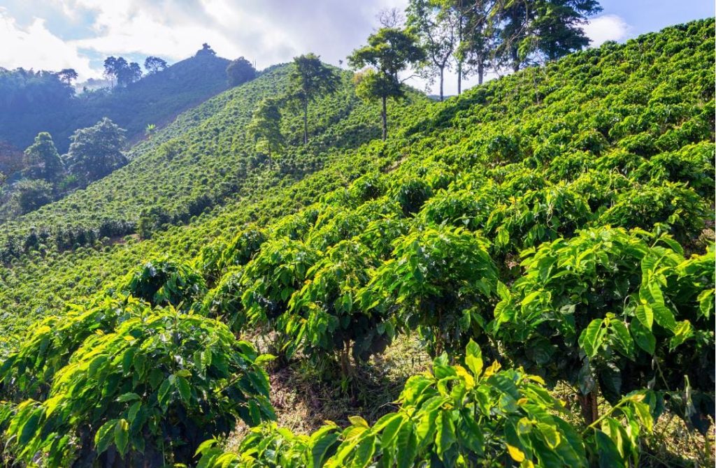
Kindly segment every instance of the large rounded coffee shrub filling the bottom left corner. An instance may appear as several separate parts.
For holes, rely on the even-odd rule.
[[[50,467],[190,463],[200,442],[239,417],[274,418],[253,346],[223,324],[172,309],[87,338],[57,372],[49,398],[19,404],[9,449]],[[121,459],[121,461],[120,461]]]

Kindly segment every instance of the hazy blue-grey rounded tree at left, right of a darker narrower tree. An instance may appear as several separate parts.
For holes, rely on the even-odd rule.
[[[82,128],[70,137],[69,152],[64,155],[67,170],[84,183],[105,177],[127,164],[122,154],[125,130],[104,119],[92,127]]]

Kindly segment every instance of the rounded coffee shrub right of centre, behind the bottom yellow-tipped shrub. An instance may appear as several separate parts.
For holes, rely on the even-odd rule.
[[[393,258],[367,286],[372,306],[386,301],[402,326],[420,331],[432,353],[459,349],[479,330],[475,319],[495,291],[487,243],[462,228],[441,227],[413,229],[393,246]]]

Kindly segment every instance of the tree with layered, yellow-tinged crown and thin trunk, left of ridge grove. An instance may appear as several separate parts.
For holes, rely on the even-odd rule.
[[[395,28],[379,29],[368,36],[368,45],[355,49],[348,57],[354,69],[372,67],[358,75],[357,92],[366,99],[380,99],[383,140],[388,137],[387,99],[405,95],[398,74],[423,59],[425,52],[417,45],[417,38]]]

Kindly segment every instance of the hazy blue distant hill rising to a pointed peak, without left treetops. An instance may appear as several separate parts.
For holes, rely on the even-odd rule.
[[[42,107],[0,107],[4,109],[0,142],[24,150],[39,132],[49,132],[62,154],[74,130],[95,125],[102,117],[125,128],[127,139],[135,142],[144,137],[147,125],[162,127],[180,112],[225,90],[228,63],[221,57],[198,54],[112,92],[82,93]]]

